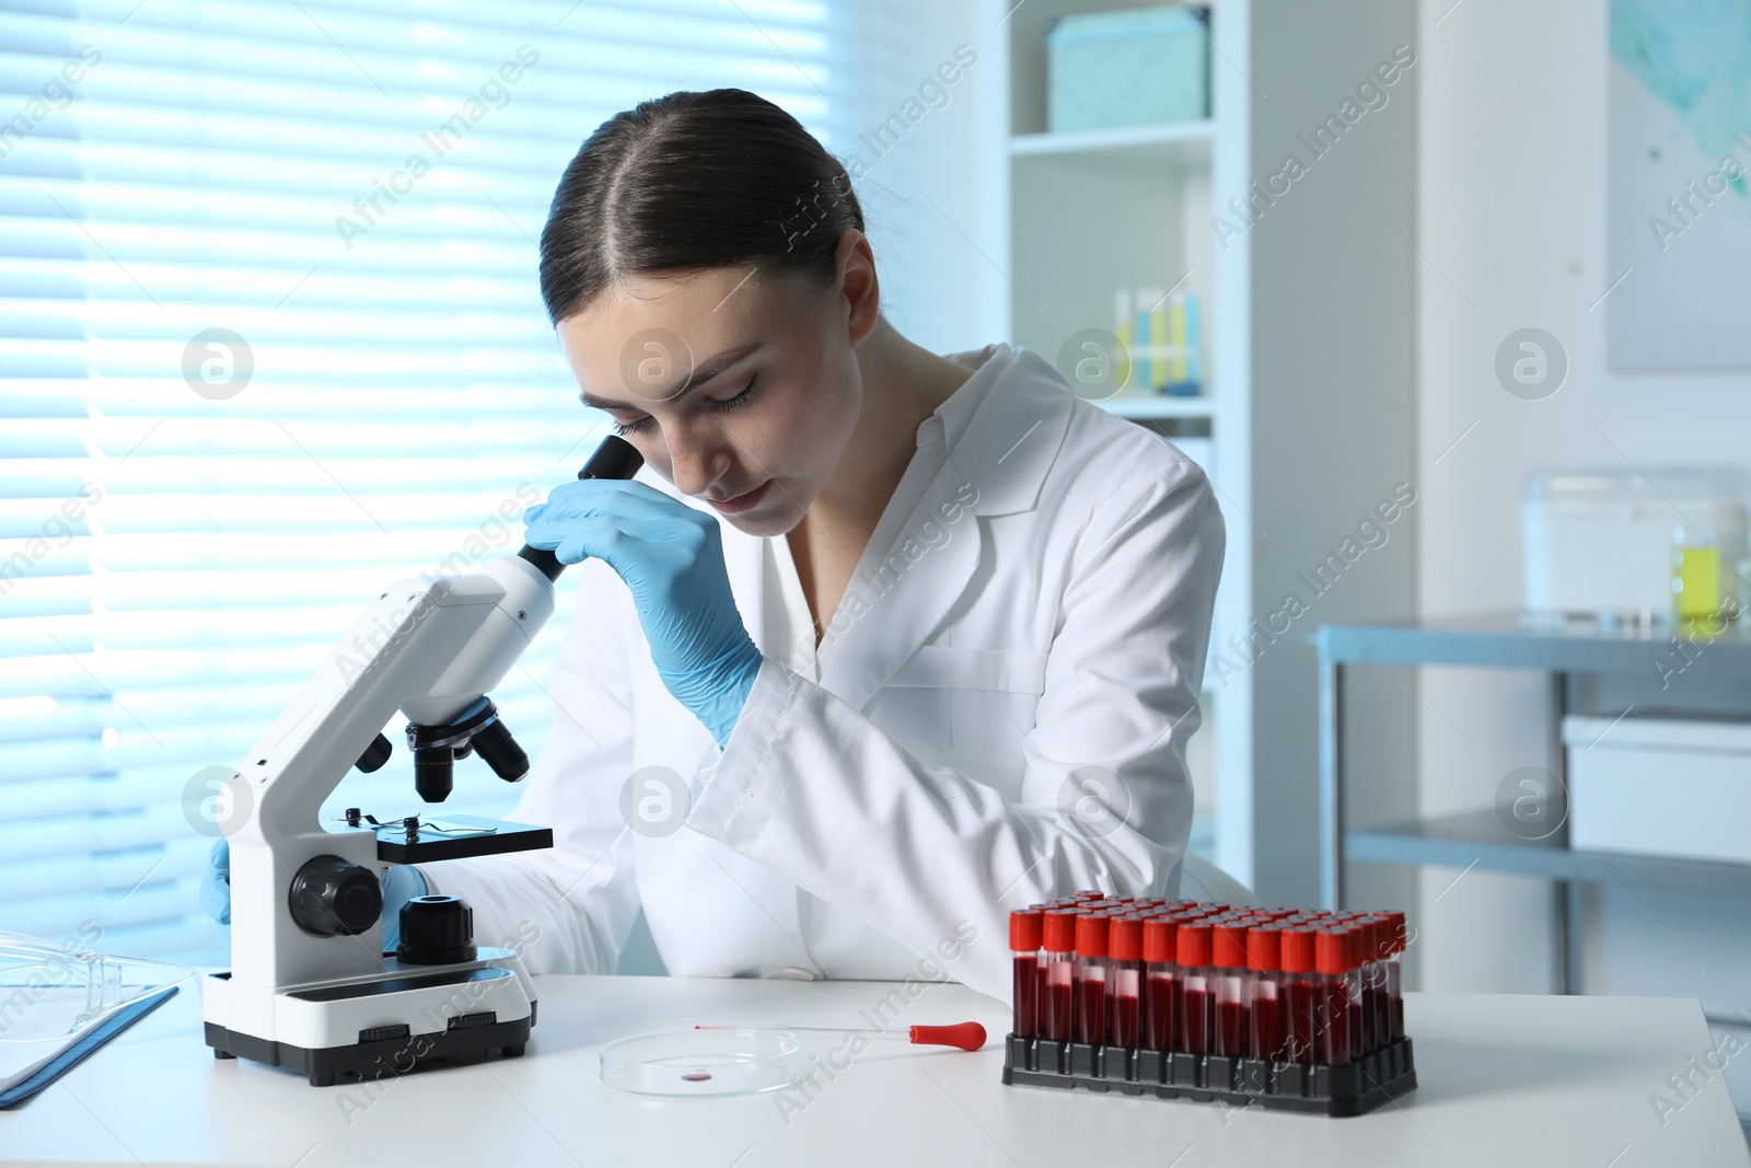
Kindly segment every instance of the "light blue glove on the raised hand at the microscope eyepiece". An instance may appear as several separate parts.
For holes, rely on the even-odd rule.
[[[585,478],[524,511],[532,548],[606,560],[627,587],[664,686],[723,746],[755,688],[760,650],[723,567],[718,520],[646,483]]]

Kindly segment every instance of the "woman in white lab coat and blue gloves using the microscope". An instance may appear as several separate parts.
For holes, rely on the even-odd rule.
[[[1177,879],[1226,539],[1196,464],[1033,352],[905,340],[844,168],[741,89],[583,144],[541,291],[646,466],[525,515],[580,564],[511,814],[555,848],[417,869],[482,944],[613,972],[643,905],[671,974],[1007,998],[1009,909]]]

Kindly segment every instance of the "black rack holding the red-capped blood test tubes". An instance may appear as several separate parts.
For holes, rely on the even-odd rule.
[[[1003,1082],[1201,1103],[1222,1100],[1233,1107],[1259,1103],[1271,1110],[1319,1115],[1361,1115],[1415,1089],[1417,1065],[1410,1038],[1399,1038],[1354,1063],[1326,1066],[1007,1035]]]

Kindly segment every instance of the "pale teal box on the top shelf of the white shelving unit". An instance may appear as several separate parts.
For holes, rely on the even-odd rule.
[[[1210,11],[1164,5],[1059,16],[1045,26],[1047,130],[1210,116]]]

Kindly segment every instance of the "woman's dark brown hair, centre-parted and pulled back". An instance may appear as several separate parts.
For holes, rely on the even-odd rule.
[[[846,168],[746,89],[676,91],[615,114],[566,166],[541,229],[559,324],[622,275],[718,266],[830,284],[863,208]]]

